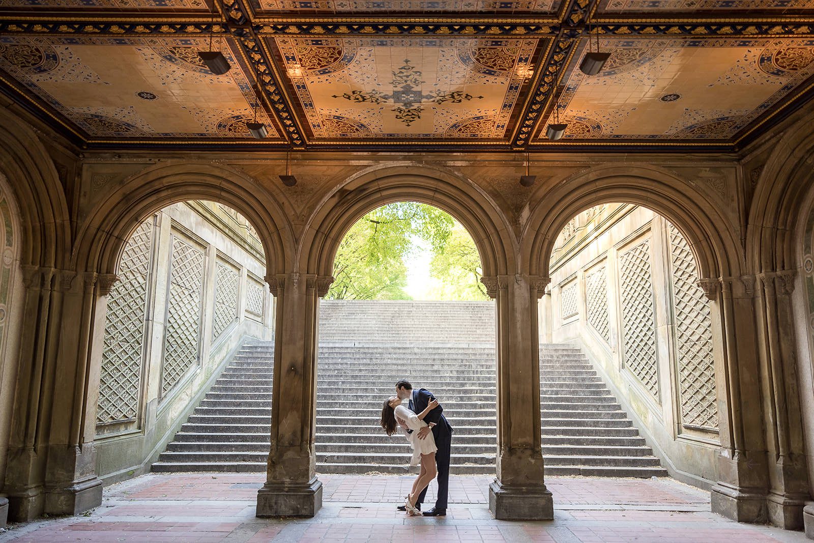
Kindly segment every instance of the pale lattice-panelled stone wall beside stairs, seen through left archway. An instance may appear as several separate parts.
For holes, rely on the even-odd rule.
[[[252,226],[220,204],[173,204],[133,231],[107,300],[95,440],[103,480],[149,471],[242,340],[269,339],[264,274]]]

